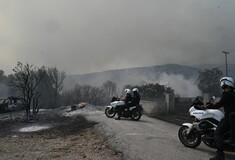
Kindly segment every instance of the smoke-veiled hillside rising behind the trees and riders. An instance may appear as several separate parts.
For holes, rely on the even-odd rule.
[[[65,79],[65,89],[71,89],[75,84],[88,84],[101,86],[107,80],[117,83],[119,89],[127,84],[140,85],[145,83],[160,83],[172,88],[179,86],[177,83],[183,82],[184,85],[194,85],[198,77],[198,68],[168,64],[162,66],[138,67],[120,70],[109,70],[104,72],[89,73],[82,75],[69,75]],[[187,81],[187,82],[184,82]],[[194,88],[191,86],[191,88]],[[179,92],[183,92],[185,89]],[[198,93],[198,89],[196,89]]]

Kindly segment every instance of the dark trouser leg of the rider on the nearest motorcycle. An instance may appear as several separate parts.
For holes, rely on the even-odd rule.
[[[223,152],[223,140],[224,140],[224,133],[228,132],[230,129],[229,126],[229,119],[228,118],[223,118],[215,131],[215,143],[216,143],[216,148],[220,152]]]

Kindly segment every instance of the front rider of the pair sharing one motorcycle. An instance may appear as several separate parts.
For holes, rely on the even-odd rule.
[[[125,102],[125,105],[120,106],[118,108],[118,111],[117,111],[118,118],[116,118],[116,120],[120,120],[122,111],[131,106],[131,102],[132,102],[131,90],[130,89],[125,89],[124,91],[125,91],[125,98],[121,99],[121,100]]]

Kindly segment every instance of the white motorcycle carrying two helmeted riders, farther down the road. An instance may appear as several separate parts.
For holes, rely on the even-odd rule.
[[[124,101],[120,101],[119,98],[113,97],[110,105],[106,107],[105,109],[105,115],[108,118],[113,118],[116,113],[118,112],[118,110],[120,109],[120,107],[124,107],[125,102]],[[132,106],[128,109],[125,109],[122,111],[121,113],[121,117],[125,117],[125,118],[131,118],[132,120],[138,121],[143,113],[143,107],[142,105],[137,105],[137,106]]]

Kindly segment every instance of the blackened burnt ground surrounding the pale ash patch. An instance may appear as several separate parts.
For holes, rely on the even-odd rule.
[[[64,117],[56,114],[38,114],[37,118],[34,118],[31,123],[25,121],[24,118],[9,119],[7,121],[0,121],[0,137],[15,135],[15,134],[30,134],[30,135],[46,135],[51,138],[57,136],[74,135],[83,132],[86,128],[91,128],[96,125],[96,122],[88,121],[83,116],[76,117]],[[29,125],[51,125],[49,129],[37,131],[37,132],[19,132],[20,128]]]

